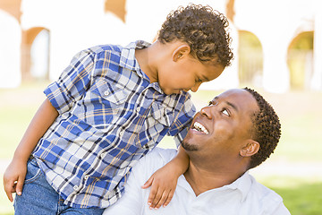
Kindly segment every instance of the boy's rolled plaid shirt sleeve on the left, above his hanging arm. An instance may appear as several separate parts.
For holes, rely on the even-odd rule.
[[[72,58],[57,82],[51,83],[46,90],[47,99],[59,114],[68,111],[88,90],[91,84],[91,71],[94,67],[94,55],[87,49]]]

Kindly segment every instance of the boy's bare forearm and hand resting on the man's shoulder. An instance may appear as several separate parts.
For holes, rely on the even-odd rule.
[[[182,147],[179,147],[178,153],[174,159],[168,162],[163,168],[159,168],[148,181],[142,186],[143,189],[151,186],[148,195],[148,204],[150,208],[164,207],[172,200],[174,191],[181,176],[189,167],[189,157]]]

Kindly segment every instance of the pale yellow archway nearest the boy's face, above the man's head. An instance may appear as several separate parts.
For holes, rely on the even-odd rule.
[[[261,86],[263,47],[258,37],[248,30],[239,30],[239,80],[242,85]]]

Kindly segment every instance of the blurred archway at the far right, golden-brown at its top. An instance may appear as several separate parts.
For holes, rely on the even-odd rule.
[[[309,89],[313,74],[313,31],[296,35],[287,48],[287,65],[292,90]]]

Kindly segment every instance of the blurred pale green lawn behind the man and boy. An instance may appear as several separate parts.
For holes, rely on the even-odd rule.
[[[6,199],[3,173],[13,151],[38,106],[45,99],[47,82],[22,84],[17,89],[0,89],[0,214],[13,214]],[[322,93],[292,91],[274,94],[259,90],[275,107],[282,123],[282,138],[275,153],[252,174],[284,198],[292,215],[322,214]],[[199,109],[218,91],[192,94]],[[174,147],[166,137],[161,147]]]

